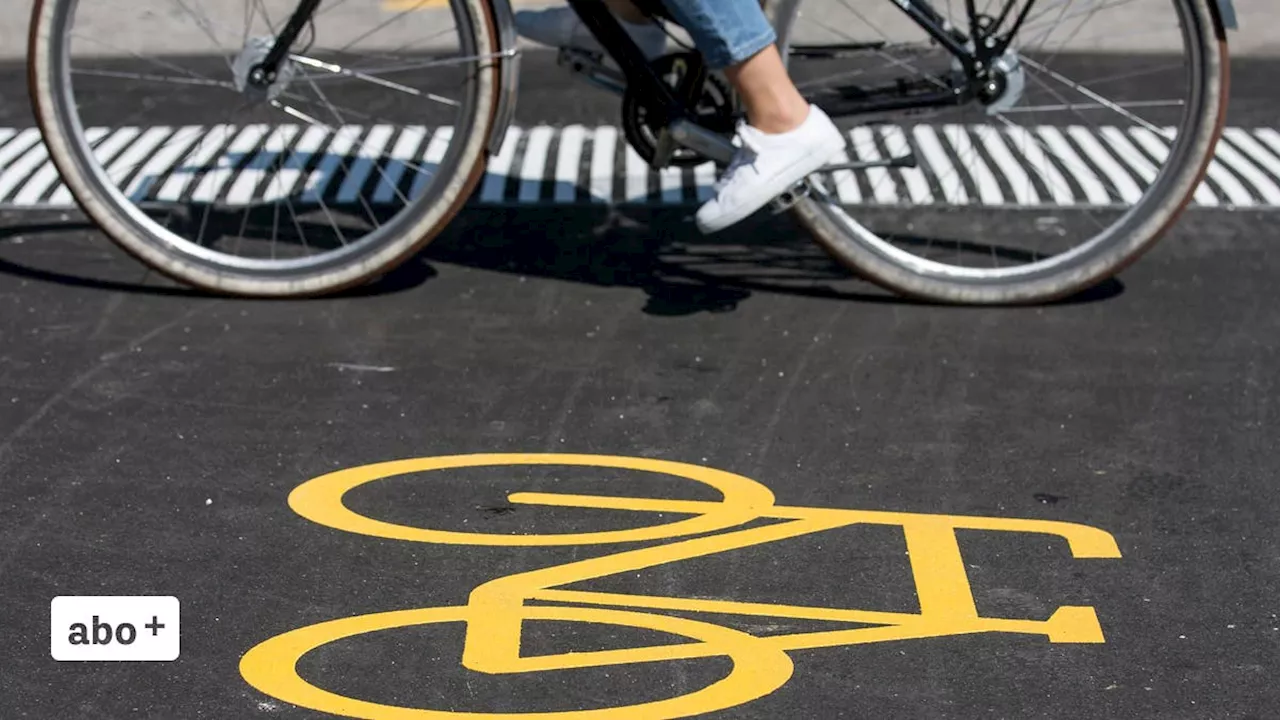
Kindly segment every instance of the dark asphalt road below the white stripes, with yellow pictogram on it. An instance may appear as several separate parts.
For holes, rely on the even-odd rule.
[[[544,82],[521,123],[612,118]],[[0,211],[0,716],[1274,714],[1274,211],[1027,309],[687,214],[474,208],[264,302]],[[180,656],[55,661],[93,615],[179,632],[63,596],[177,597]]]

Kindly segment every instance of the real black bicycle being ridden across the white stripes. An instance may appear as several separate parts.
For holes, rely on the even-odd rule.
[[[36,118],[108,237],[198,288],[316,296],[387,273],[448,225],[512,123],[522,50],[508,0],[384,0],[390,17],[348,0],[274,14],[278,0],[178,0],[131,5],[122,41],[76,31],[118,17],[108,1],[35,4]],[[740,111],[696,51],[649,63],[602,4],[570,3],[618,70],[561,61],[622,95],[627,143],[657,169],[726,163]],[[850,156],[773,209],[856,275],[941,302],[1060,299],[1135,261],[1207,192],[1230,0],[803,3],[763,6],[806,97],[852,123]],[[212,55],[177,54],[201,44]],[[141,109],[123,114],[122,95]],[[188,110],[197,96],[214,105]],[[100,126],[161,104],[192,124],[102,140]],[[922,115],[931,124],[890,122]],[[906,209],[882,202],[895,183]]]

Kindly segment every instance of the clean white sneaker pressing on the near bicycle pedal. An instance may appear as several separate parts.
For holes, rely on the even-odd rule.
[[[716,196],[698,209],[698,229],[713,233],[745,219],[845,149],[845,137],[819,108],[795,129],[765,133],[739,123],[737,154],[716,183]]]

